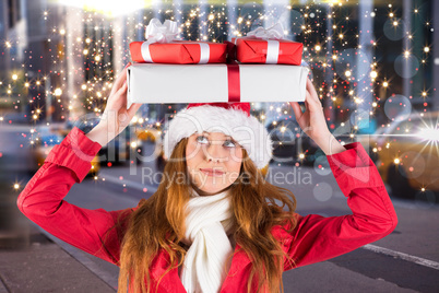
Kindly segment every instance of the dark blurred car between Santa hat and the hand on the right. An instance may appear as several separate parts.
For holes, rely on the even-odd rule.
[[[313,163],[319,146],[301,130],[294,117],[270,119],[265,122],[265,128],[273,141],[272,163]]]

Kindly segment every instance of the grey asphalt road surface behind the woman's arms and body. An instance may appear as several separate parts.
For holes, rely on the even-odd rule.
[[[151,151],[152,145],[149,148]],[[294,192],[298,213],[324,216],[351,213],[329,168],[272,165],[270,172],[288,174],[290,181],[280,185]],[[66,200],[86,209],[134,207],[141,198],[154,192],[158,181],[154,174],[153,163],[103,167],[97,180],[88,178],[74,185]],[[23,183],[28,179],[24,175],[20,178]],[[285,292],[439,292],[439,207],[392,201],[399,216],[394,232],[344,256],[285,272]],[[116,292],[116,266],[63,242],[57,243]]]

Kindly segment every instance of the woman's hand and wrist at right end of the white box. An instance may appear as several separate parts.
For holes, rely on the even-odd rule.
[[[307,108],[305,113],[301,112],[297,102],[290,102],[289,105],[293,107],[294,115],[301,130],[304,130],[327,155],[346,150],[328,129],[323,106],[309,79],[307,79],[307,93],[305,97]]]

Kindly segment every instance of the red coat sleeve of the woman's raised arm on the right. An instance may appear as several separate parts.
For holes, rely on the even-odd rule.
[[[345,151],[327,159],[352,214],[296,214],[297,225],[284,242],[295,263],[285,261],[285,270],[352,251],[387,236],[398,224],[384,184],[366,150],[359,142],[344,146]]]

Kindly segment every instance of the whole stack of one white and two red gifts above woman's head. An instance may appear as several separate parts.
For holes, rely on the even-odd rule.
[[[273,30],[266,30],[265,36],[270,32]],[[301,44],[278,37],[261,38],[260,30],[249,34],[249,37],[236,39],[236,47],[233,45],[240,63],[226,63],[226,54],[230,54],[226,44],[176,40],[176,23],[165,21],[162,25],[153,19],[146,27],[147,40],[130,44],[137,63],[128,68],[127,106],[132,103],[305,101],[308,69],[297,66],[301,60]],[[250,44],[249,38],[265,43],[265,48],[260,46],[264,56],[245,58],[244,47]],[[274,52],[272,40],[278,43]]]

